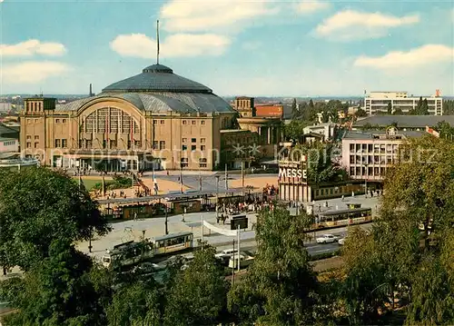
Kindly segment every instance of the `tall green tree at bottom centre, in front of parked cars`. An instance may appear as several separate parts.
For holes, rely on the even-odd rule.
[[[314,322],[318,283],[304,242],[311,218],[291,216],[279,206],[259,213],[258,250],[250,272],[228,295],[228,307],[240,322],[302,325]]]

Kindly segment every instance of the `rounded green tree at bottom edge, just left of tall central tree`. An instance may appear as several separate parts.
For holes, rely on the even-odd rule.
[[[187,269],[176,274],[166,294],[164,324],[211,325],[219,318],[226,307],[227,284],[215,252],[205,246],[194,253]]]

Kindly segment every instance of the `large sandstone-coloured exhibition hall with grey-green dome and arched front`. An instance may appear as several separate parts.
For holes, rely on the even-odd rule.
[[[209,87],[162,64],[110,84],[101,94],[55,102],[25,100],[21,148],[46,166],[102,165],[106,171],[212,170],[222,161],[222,134],[233,129],[237,114]],[[255,141],[247,130],[234,137],[231,142]]]

